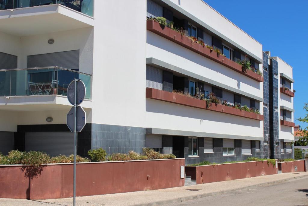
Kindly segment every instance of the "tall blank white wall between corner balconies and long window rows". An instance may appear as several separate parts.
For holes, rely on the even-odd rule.
[[[92,123],[144,127],[146,2],[95,1]]]

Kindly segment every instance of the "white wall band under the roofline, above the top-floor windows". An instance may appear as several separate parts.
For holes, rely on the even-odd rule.
[[[262,45],[202,0],[171,0],[185,11],[262,59]],[[180,4],[179,4],[180,2]],[[261,23],[261,22],[260,22]]]

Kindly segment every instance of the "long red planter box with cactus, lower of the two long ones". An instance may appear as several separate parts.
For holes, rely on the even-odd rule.
[[[244,110],[241,111],[234,107],[228,107],[222,104],[215,105],[215,103],[211,103],[211,106],[206,107],[206,101],[204,100],[195,99],[192,97],[186,97],[184,95],[179,95],[179,94],[175,94],[175,93],[168,92],[168,91],[147,88],[145,94],[146,94],[145,95],[146,98],[149,98],[149,99],[157,99],[157,100],[161,100],[164,102],[185,105],[188,107],[196,107],[200,109],[217,111],[217,112],[221,112],[221,113],[225,113],[229,115],[235,115],[235,116],[245,117],[245,118],[254,119],[254,120],[260,120],[260,121],[264,120],[264,116],[260,114],[256,114],[253,112],[247,112]]]

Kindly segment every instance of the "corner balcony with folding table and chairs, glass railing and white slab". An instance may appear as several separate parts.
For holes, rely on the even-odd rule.
[[[29,107],[59,109],[71,106],[67,100],[67,87],[74,79],[86,86],[82,103],[91,108],[91,74],[60,67],[0,70],[0,109],[22,110]]]

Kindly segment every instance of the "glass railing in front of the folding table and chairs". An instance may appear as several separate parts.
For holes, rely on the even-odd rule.
[[[67,87],[75,78],[86,86],[85,99],[91,99],[91,74],[61,67],[0,70],[0,96],[67,96]]]

